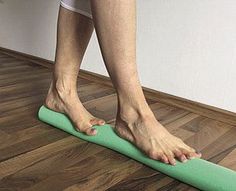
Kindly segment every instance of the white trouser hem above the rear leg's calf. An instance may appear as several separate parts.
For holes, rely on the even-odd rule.
[[[90,0],[61,0],[61,6],[92,19]]]

